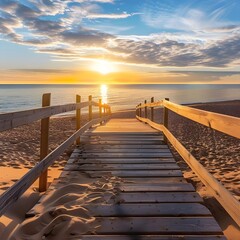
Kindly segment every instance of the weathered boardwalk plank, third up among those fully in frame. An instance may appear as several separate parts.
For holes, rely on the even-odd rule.
[[[196,192],[122,192],[116,196],[119,203],[183,203],[203,202]]]

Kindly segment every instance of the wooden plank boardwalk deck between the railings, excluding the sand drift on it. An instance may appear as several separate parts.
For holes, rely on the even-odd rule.
[[[93,186],[82,207],[97,226],[74,239],[225,239],[162,134],[135,119],[86,132],[48,192],[69,183]]]

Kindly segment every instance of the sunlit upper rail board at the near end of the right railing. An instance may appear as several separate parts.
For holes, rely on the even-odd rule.
[[[165,107],[183,117],[230,136],[240,138],[240,118],[181,106],[165,100],[163,103]]]

